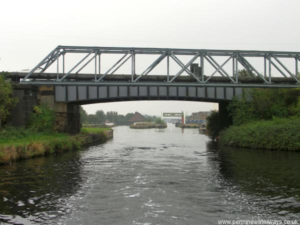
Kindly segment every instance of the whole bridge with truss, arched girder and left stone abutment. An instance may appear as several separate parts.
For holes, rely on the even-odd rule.
[[[300,52],[290,51],[59,45],[32,70],[11,76],[20,86],[37,86],[37,102],[53,105],[58,130],[69,132],[72,124],[76,130],[80,126],[79,104],[211,101],[219,103],[221,112],[224,102],[242,94],[243,88],[300,87],[298,61]],[[108,62],[111,65],[104,70]],[[156,66],[160,74],[152,74]],[[242,68],[251,75],[240,76]],[[24,93],[30,94],[29,89]]]

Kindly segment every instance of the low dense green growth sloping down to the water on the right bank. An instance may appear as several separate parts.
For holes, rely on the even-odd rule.
[[[300,117],[273,118],[232,125],[220,132],[225,145],[300,150]]]

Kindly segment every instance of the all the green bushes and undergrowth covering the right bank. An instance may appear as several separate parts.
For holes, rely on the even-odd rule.
[[[220,131],[217,112],[207,121],[211,139],[222,144],[300,150],[300,88],[244,89],[228,111],[233,124]]]

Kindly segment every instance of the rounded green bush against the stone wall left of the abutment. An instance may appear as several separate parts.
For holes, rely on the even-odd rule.
[[[36,132],[54,131],[55,114],[47,105],[35,105],[27,121],[27,128]]]

